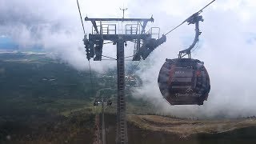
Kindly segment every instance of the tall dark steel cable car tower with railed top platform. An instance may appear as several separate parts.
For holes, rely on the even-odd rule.
[[[116,143],[128,143],[126,123],[126,95],[125,95],[125,55],[126,42],[134,42],[133,61],[146,59],[147,56],[163,42],[166,36],[159,38],[160,29],[152,27],[145,32],[147,22],[154,22],[154,18],[85,18],[92,22],[92,31],[89,38],[85,35],[87,59],[101,61],[104,41],[113,42],[117,46],[117,135]],[[123,28],[123,24],[125,28]],[[154,36],[156,38],[154,38]],[[109,43],[109,42],[108,42]]]

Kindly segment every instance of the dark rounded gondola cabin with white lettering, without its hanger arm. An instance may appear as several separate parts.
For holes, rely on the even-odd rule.
[[[202,105],[210,92],[210,78],[198,59],[166,59],[158,86],[170,105]]]

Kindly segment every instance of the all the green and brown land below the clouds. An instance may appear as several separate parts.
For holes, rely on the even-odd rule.
[[[132,66],[131,66],[132,67]],[[0,54],[0,143],[93,143],[95,97],[109,97],[106,142],[114,143],[116,73],[74,70],[36,54]],[[129,143],[255,143],[254,118],[236,121],[194,121],[154,115],[154,106],[131,96],[141,86],[126,78]],[[140,114],[140,115],[135,115]],[[151,115],[146,115],[151,114]],[[232,141],[230,141],[232,139]]]

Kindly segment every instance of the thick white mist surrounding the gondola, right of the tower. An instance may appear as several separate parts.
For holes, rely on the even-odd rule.
[[[163,6],[161,3],[164,2],[160,2],[159,7]],[[170,11],[186,6],[184,2],[170,3],[174,3],[169,5]],[[166,27],[170,30],[178,26],[205,3],[198,1],[198,6],[191,6],[196,7],[194,10],[182,9],[182,13],[186,13],[182,16],[170,12],[165,16],[154,14],[154,18],[159,26],[167,31]],[[176,7],[172,9],[172,6]],[[210,74],[211,90],[208,101],[204,102],[203,106],[170,106],[162,98],[157,82],[159,70],[165,59],[178,58],[178,51],[186,49],[193,42],[194,25],[180,26],[167,36],[165,44],[154,50],[150,58],[142,62],[141,70],[137,74],[143,79],[144,86],[134,89],[134,97],[153,103],[160,114],[190,118],[238,118],[255,115],[256,30],[253,15],[256,12],[252,10],[255,6],[255,3],[246,1],[217,1],[202,13],[205,21],[200,22],[202,34],[192,58],[205,62]],[[158,7],[158,4],[148,6],[146,9],[154,10],[155,7]],[[247,13],[248,11],[250,13]],[[166,23],[169,26],[166,26]]]

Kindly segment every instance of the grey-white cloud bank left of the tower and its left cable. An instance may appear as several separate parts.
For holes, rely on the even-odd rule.
[[[85,24],[89,33],[89,22]],[[76,70],[89,69],[82,42],[82,24],[75,1],[1,1],[0,34],[12,38],[17,43],[18,50],[40,47],[50,58],[58,59]],[[114,50],[110,48],[104,53],[108,54],[109,51]],[[92,62],[92,65],[92,69],[99,73],[116,66],[114,62]]]

